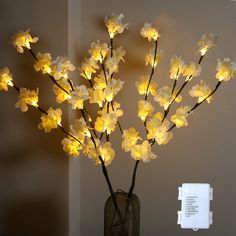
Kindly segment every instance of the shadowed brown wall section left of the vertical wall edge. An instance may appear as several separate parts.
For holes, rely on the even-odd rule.
[[[21,87],[40,88],[40,104],[55,105],[51,82],[33,69],[29,53],[16,52],[9,39],[31,28],[35,51],[67,55],[67,1],[0,1],[0,67],[8,66]],[[68,159],[61,132],[37,129],[40,113],[14,108],[14,90],[0,93],[0,235],[68,235]],[[65,110],[67,117],[67,110]]]

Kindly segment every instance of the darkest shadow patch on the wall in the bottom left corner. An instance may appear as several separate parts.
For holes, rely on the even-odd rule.
[[[53,199],[23,199],[15,196],[2,209],[0,232],[5,236],[55,235],[60,217]],[[2,234],[1,234],[2,235]]]

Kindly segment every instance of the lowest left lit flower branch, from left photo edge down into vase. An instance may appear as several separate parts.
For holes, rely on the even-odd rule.
[[[13,83],[13,75],[8,68],[0,70],[0,90],[8,91],[8,87],[14,88],[19,93],[18,102],[16,103],[16,108],[20,108],[22,112],[28,110],[28,105],[36,107],[41,113],[41,123],[38,125],[39,129],[44,129],[46,133],[51,132],[52,129],[60,128],[62,132],[67,136],[62,140],[63,150],[73,157],[78,157],[79,150],[83,148],[83,153],[86,155],[91,155],[97,164],[102,164],[102,170],[107,181],[115,209],[117,211],[118,217],[121,219],[121,212],[118,208],[115,194],[107,173],[106,165],[110,164],[114,158],[114,150],[111,148],[110,143],[100,144],[99,140],[94,140],[91,135],[91,131],[86,126],[86,122],[83,118],[75,120],[75,123],[70,126],[71,132],[66,131],[66,129],[61,125],[62,110],[57,108],[49,108],[45,111],[38,105],[38,90],[27,90],[26,88],[19,88],[15,83]],[[88,140],[88,144],[84,144],[85,137],[91,137],[91,141]],[[97,145],[98,144],[98,145]],[[98,161],[99,160],[99,161]]]

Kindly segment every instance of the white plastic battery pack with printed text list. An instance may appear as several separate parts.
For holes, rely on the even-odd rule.
[[[207,183],[183,183],[179,187],[178,200],[181,200],[181,211],[178,211],[178,222],[182,229],[209,229],[213,223],[210,201],[213,200],[213,189]]]

